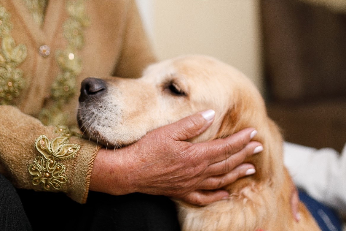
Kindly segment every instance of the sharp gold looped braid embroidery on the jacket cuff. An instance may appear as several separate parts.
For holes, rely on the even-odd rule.
[[[29,173],[33,185],[41,185],[43,190],[61,190],[67,183],[66,167],[62,160],[70,159],[80,150],[79,144],[70,144],[69,137],[74,133],[67,127],[56,127],[54,132],[60,136],[49,140],[47,136],[40,135],[35,142],[36,150],[41,156],[36,156],[29,165]]]

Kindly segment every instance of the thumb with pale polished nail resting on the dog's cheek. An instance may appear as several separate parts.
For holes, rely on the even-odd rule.
[[[166,136],[173,140],[188,140],[206,131],[215,117],[215,111],[210,109],[185,117],[173,124],[166,125],[161,129]]]

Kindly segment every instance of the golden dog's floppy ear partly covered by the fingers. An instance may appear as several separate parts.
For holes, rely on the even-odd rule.
[[[244,128],[254,127],[258,133],[253,140],[261,142],[264,150],[249,157],[246,162],[255,165],[258,178],[271,178],[275,174],[280,174],[277,171],[283,171],[275,168],[280,166],[275,163],[283,162],[279,128],[267,116],[263,98],[259,93],[243,91],[240,96],[241,98],[233,98],[233,105],[225,113],[214,138],[224,138]]]

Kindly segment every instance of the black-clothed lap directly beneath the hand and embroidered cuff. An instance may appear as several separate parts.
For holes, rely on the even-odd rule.
[[[129,194],[112,196],[89,192],[86,204],[78,204],[61,193],[18,190],[33,230],[52,227],[50,219],[37,219],[42,214],[37,202],[47,202],[56,214],[63,214],[68,231],[179,231],[174,203],[164,196]]]

